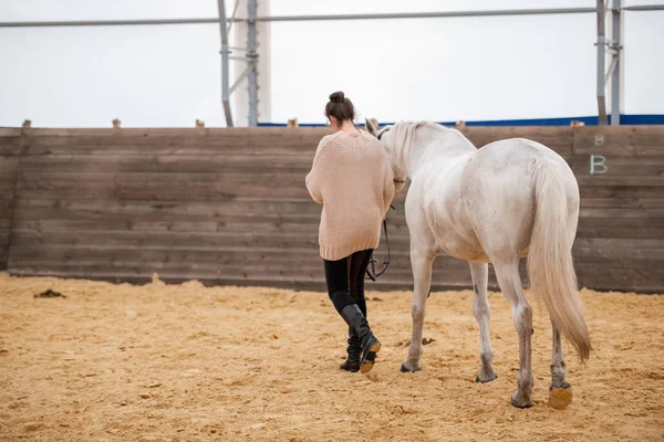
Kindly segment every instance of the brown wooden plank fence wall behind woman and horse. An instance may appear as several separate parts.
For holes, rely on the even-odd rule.
[[[582,286],[664,292],[664,127],[463,130],[477,146],[531,138],[569,161],[582,198],[574,245]],[[320,206],[304,176],[328,133],[0,129],[0,270],[323,290]],[[596,175],[591,155],[602,156]],[[372,288],[412,287],[404,197],[388,215],[392,265]],[[439,256],[434,281],[436,290],[468,287],[470,274]]]

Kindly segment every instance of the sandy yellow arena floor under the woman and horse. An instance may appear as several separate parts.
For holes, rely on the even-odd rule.
[[[48,288],[66,298],[33,298]],[[0,441],[664,440],[664,296],[583,292],[595,354],[569,346],[574,400],[548,406],[551,337],[536,311],[536,404],[509,404],[517,336],[491,294],[498,379],[479,368],[470,292],[434,293],[423,370],[400,373],[411,294],[370,292],[383,343],[338,370],[346,328],[322,293],[14,278],[0,273]],[[533,307],[537,303],[531,298]]]

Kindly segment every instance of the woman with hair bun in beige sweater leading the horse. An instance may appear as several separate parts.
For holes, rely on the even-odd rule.
[[[381,143],[355,128],[343,92],[330,95],[325,116],[335,131],[320,141],[307,188],[323,204],[319,244],[328,294],[349,325],[349,357],[340,368],[364,373],[381,349],[366,322],[364,273],[394,197],[393,172]]]

